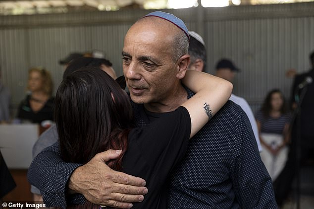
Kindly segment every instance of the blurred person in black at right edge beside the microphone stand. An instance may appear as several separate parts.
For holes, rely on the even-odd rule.
[[[288,160],[282,172],[274,182],[276,201],[281,206],[287,199],[294,177],[309,159],[314,159],[314,51],[310,53],[311,68],[308,72],[297,74],[291,89],[292,108],[297,107],[301,94],[304,98],[301,103],[300,124],[293,121],[291,131],[291,145]],[[301,133],[298,135],[298,131]],[[297,153],[300,153],[298,157]]]

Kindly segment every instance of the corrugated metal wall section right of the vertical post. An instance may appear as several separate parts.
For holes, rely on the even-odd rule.
[[[314,50],[314,17],[210,21],[208,35],[209,72],[221,57],[231,58],[241,69],[234,93],[259,106],[272,88],[290,95],[289,68],[310,68]],[[256,108],[254,108],[256,109]]]

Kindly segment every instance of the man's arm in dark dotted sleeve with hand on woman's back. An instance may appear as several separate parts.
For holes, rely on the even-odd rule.
[[[147,189],[142,185],[146,182],[105,165],[106,161],[118,155],[118,152],[108,150],[97,154],[84,166],[65,163],[61,160],[58,144],[55,143],[33,160],[28,170],[28,180],[40,189],[48,207],[66,208],[68,201],[74,204],[84,202],[82,196],[78,194],[74,196],[67,194],[68,186],[69,189],[76,189],[71,190],[72,194],[81,193],[93,203],[130,208],[132,202],[143,200],[143,194],[147,193]],[[76,180],[77,184],[74,184],[73,180]],[[86,182],[88,184],[85,184]]]

